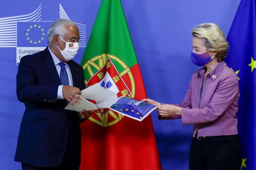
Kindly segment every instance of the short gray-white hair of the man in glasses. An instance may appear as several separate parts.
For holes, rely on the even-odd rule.
[[[59,19],[55,20],[47,32],[48,45],[52,44],[52,38],[54,35],[63,35],[67,31],[65,26],[76,26],[76,23],[70,20]]]

